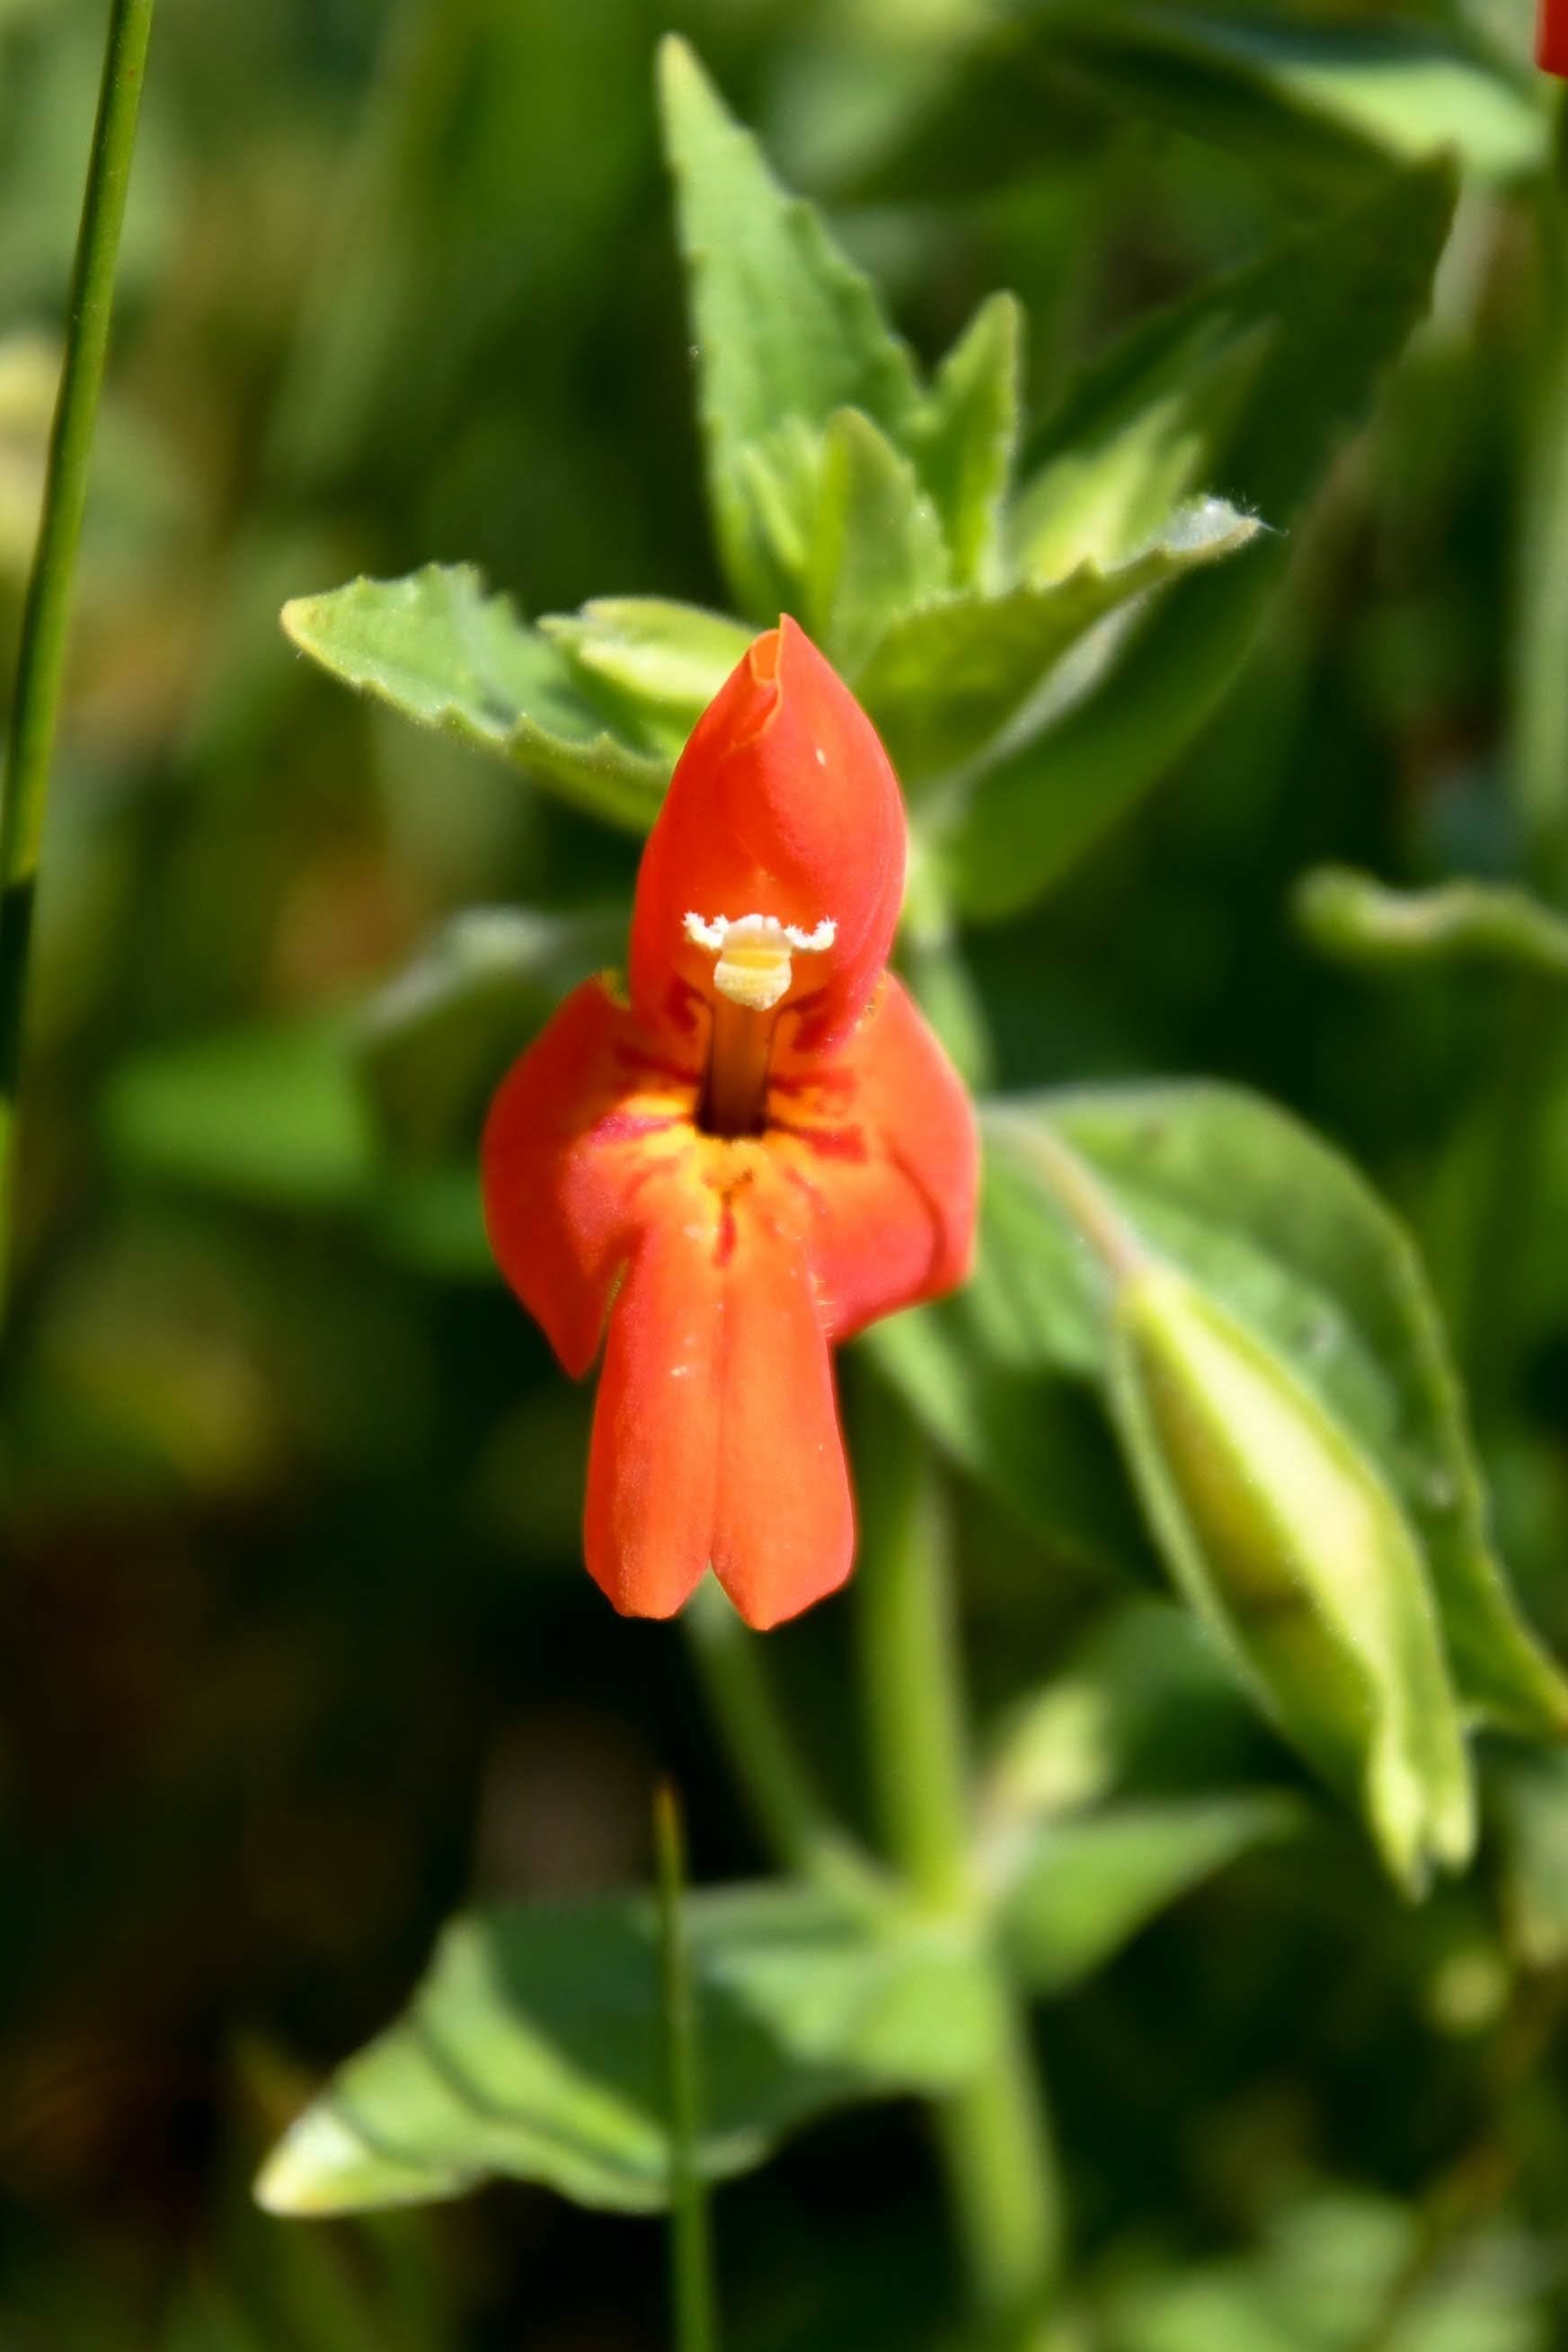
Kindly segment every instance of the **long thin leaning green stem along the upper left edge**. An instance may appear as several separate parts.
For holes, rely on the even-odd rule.
[[[71,270],[71,315],[49,433],[42,517],[21,607],[21,649],[7,734],[5,797],[0,800],[0,1310],[14,1225],[16,1087],[33,896],[66,673],[71,583],[82,539],[92,430],[108,355],[115,256],[150,31],[153,0],[110,0],[99,115]]]

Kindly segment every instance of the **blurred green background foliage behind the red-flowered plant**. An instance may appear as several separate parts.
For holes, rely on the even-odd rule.
[[[284,600],[428,562],[468,626],[454,567],[480,564],[527,614],[585,607],[538,644],[597,661],[590,703],[614,710],[649,607],[588,600],[724,612],[651,106],[668,26],[830,207],[926,376],[978,313],[959,350],[997,381],[1013,315],[980,303],[1016,289],[1009,560],[1051,574],[1072,517],[1114,567],[1199,492],[1272,524],[1053,715],[1048,797],[1023,743],[933,802],[945,880],[910,967],[1009,1089],[1204,1073],[1368,1171],[1446,1312],[1497,1550],[1563,1651],[1554,931],[1533,910],[1512,948],[1516,898],[1465,901],[1488,960],[1453,960],[1436,924],[1385,974],[1319,960],[1291,913],[1324,863],[1413,891],[1561,882],[1563,167],[1526,19],[162,0],[45,856],[0,1421],[7,2345],[663,2340],[646,2223],[508,2187],[301,2227],[249,2211],[247,2180],[402,2009],[458,1900],[609,1903],[646,1877],[656,1766],[698,1877],[759,1860],[677,1639],[611,1618],[576,1566],[585,1399],[489,1277],[465,1169],[543,1004],[614,953],[635,840],[341,694],[277,630]],[[0,9],[7,644],[99,33],[92,0]],[[1342,445],[1427,306],[1450,151],[1429,318]],[[1258,332],[1267,308],[1295,339]],[[830,388],[823,426],[844,397],[865,395]],[[844,468],[865,459],[835,430]],[[971,534],[959,586],[994,586],[997,560]],[[851,647],[853,609],[827,597]],[[701,699],[661,677],[630,790]],[[494,734],[494,696],[484,715]],[[1544,2352],[1568,2328],[1561,1769],[1483,1745],[1474,1875],[1399,1907],[1143,1592],[1093,1341],[976,1350],[985,1279],[877,1345],[957,1465],[999,1722],[992,1867],[1053,1994],[1070,2340]],[[853,1813],[832,1611],[771,1656]],[[738,2347],[947,2324],[936,2185],[898,2110],[813,2124],[717,2211]]]

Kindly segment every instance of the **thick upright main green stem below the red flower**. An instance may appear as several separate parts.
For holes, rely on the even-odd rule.
[[[872,1785],[889,1853],[914,1898],[983,1933],[959,1644],[940,1496],[898,1406],[858,1392],[860,1670]],[[997,1976],[997,2046],[936,2105],[976,2317],[997,2352],[1044,2352],[1063,2253],[1063,2197],[1027,2020]]]

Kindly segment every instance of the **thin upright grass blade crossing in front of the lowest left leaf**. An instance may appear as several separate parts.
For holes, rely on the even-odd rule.
[[[658,1856],[658,1945],[665,2011],[665,2063],[670,2112],[670,2307],[675,2352],[715,2352],[712,2232],[708,2190],[698,2159],[703,2086],[691,1966],[682,1896],[686,1891],[686,1839],[675,1790],[668,1780],[654,1795],[654,1846]]]

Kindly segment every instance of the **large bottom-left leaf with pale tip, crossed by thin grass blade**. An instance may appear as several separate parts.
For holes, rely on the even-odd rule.
[[[992,1983],[952,1933],[799,1886],[684,1905],[712,2178],[849,2100],[945,2091],[992,2046]],[[268,2159],[277,2213],[541,2180],[578,2204],[668,2194],[658,1922],[649,1896],[520,1903],[447,1929],[409,2013]]]

